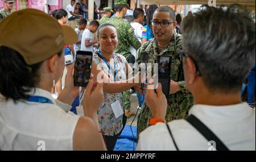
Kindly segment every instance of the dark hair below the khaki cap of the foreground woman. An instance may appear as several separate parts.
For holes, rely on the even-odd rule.
[[[62,51],[58,53],[62,55]],[[27,65],[23,57],[14,49],[0,47],[0,93],[5,99],[27,99],[28,92],[39,82],[39,69],[43,61]]]

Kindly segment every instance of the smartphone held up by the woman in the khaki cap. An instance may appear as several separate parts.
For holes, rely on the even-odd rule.
[[[92,68],[92,56],[90,51],[77,51],[74,72],[74,85],[85,87],[90,79]]]

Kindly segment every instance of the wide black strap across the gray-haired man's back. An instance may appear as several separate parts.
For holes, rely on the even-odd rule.
[[[229,151],[224,143],[211,131],[204,123],[197,119],[194,115],[189,115],[186,119],[193,127],[195,127],[208,141],[213,140],[216,143],[216,150]]]

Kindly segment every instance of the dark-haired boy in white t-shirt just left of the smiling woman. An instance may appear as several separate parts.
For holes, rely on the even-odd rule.
[[[93,52],[93,44],[96,44],[97,40],[93,40],[92,34],[97,31],[99,26],[100,24],[97,22],[97,20],[93,20],[90,22],[89,27],[84,30],[82,33],[81,51]]]

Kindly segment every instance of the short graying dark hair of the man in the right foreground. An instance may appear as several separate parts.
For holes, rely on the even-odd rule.
[[[241,90],[255,64],[255,24],[244,13],[209,7],[188,14],[181,24],[182,47],[197,64],[212,92]]]

